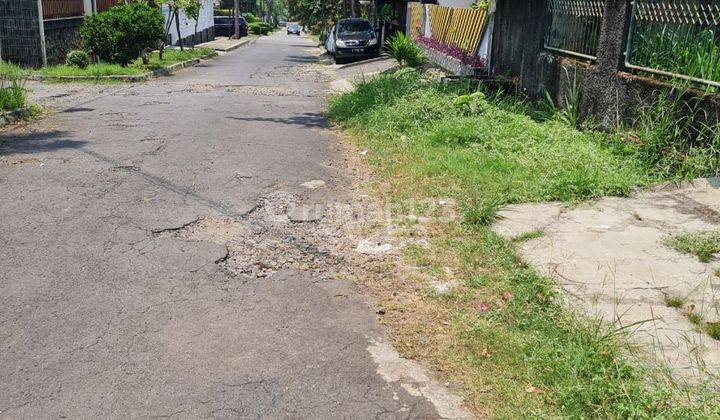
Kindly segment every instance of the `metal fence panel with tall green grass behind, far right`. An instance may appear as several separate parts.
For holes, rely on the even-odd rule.
[[[720,1],[636,0],[628,68],[720,87]]]

